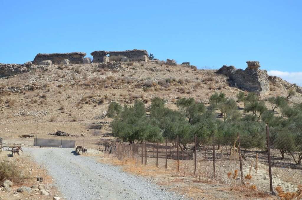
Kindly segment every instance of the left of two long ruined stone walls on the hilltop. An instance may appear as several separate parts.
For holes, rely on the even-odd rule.
[[[61,64],[63,60],[68,59],[70,64],[82,64],[84,56],[86,56],[84,52],[38,53],[33,63],[39,65],[43,60],[51,60],[52,64]]]

